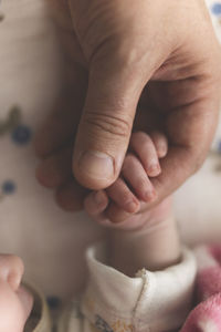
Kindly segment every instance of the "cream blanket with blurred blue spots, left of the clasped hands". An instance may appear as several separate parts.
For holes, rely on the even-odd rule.
[[[22,258],[48,302],[84,284],[85,248],[104,229],[63,211],[35,178],[33,136],[62,87],[62,55],[48,1],[2,0],[0,12],[0,252]]]

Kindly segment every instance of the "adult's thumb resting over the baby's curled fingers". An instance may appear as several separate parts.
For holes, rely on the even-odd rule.
[[[83,186],[102,189],[117,178],[143,87],[140,75],[124,65],[90,70],[73,157],[74,175]]]

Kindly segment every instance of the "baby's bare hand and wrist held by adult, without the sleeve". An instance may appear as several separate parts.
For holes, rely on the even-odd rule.
[[[144,267],[159,270],[180,259],[171,199],[146,209],[156,195],[151,177],[160,174],[159,158],[166,154],[167,139],[161,134],[134,133],[119,178],[85,200],[87,212],[110,227],[110,264],[130,277]]]

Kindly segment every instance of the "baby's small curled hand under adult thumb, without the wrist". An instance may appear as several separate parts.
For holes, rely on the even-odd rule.
[[[86,197],[87,214],[102,225],[139,227],[154,212],[148,209],[144,218],[145,203],[149,207],[157,198],[151,178],[161,173],[159,158],[164,158],[167,151],[167,138],[162,134],[133,133],[120,176],[106,190],[93,191]]]

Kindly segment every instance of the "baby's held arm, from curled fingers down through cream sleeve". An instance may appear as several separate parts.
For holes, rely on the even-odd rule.
[[[162,135],[133,134],[119,178],[86,197],[86,211],[109,228],[109,247],[108,241],[88,247],[87,287],[80,303],[64,312],[59,332],[66,325],[69,332],[81,326],[81,331],[87,326],[177,331],[185,321],[192,301],[194,260],[180,248],[171,199],[152,209],[148,204],[156,198],[151,178],[160,174],[159,158],[166,154]]]

